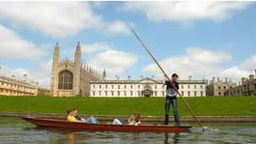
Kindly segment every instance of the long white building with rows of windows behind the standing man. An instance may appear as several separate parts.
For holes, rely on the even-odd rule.
[[[207,81],[205,80],[179,80],[179,91],[184,97],[204,97]],[[166,86],[162,80],[146,77],[139,80],[120,79],[91,81],[90,97],[165,97]]]

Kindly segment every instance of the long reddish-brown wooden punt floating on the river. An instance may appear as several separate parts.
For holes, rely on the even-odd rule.
[[[141,124],[141,125],[113,125],[104,122],[98,124],[86,122],[69,122],[64,119],[45,119],[24,117],[23,120],[42,126],[68,129],[72,131],[124,131],[124,132],[184,132],[189,131],[191,126],[173,126],[173,125],[157,125],[157,124]]]

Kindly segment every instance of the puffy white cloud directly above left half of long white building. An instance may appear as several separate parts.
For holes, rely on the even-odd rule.
[[[108,77],[114,77],[135,65],[137,56],[130,52],[108,50],[89,58],[88,63],[101,72],[106,68]]]

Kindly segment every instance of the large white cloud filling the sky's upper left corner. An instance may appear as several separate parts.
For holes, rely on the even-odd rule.
[[[129,29],[125,22],[121,22],[123,27],[118,31],[109,29],[109,24],[116,22],[104,21],[93,13],[88,2],[1,2],[0,18],[51,37],[75,35],[83,29],[108,29],[110,34],[127,34]]]

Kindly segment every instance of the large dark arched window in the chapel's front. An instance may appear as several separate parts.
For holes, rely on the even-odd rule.
[[[72,89],[73,75],[72,72],[62,71],[59,74],[59,89]]]

